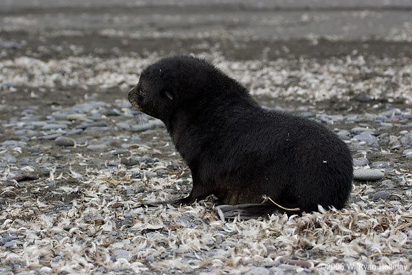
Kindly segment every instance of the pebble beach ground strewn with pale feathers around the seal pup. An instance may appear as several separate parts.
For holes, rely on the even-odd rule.
[[[0,274],[411,272],[408,1],[1,2]],[[356,169],[346,208],[223,221],[213,197],[141,207],[192,184],[163,125],[126,100],[168,54],[335,131]]]

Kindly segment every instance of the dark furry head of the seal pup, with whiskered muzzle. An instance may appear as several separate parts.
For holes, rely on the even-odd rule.
[[[226,78],[231,81],[201,58],[166,57],[144,69],[128,100],[139,111],[165,122],[176,109],[199,106],[220,94]]]

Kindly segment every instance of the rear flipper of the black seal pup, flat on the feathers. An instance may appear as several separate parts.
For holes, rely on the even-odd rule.
[[[265,218],[275,213],[301,214],[301,211],[285,211],[268,203],[244,203],[235,206],[224,204],[216,206],[215,210],[219,217],[224,219],[258,219],[259,217]]]

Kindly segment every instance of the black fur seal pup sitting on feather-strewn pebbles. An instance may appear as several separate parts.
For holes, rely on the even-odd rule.
[[[128,100],[165,123],[192,172],[192,192],[179,203],[213,194],[225,205],[247,203],[239,209],[255,217],[279,210],[250,204],[264,196],[300,214],[318,205],[341,209],[350,195],[352,156],[337,135],[312,120],[263,109],[203,59],[172,56],[150,65]]]

